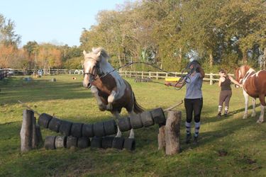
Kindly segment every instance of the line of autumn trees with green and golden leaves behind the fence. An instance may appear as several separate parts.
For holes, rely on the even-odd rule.
[[[196,58],[206,71],[216,72],[221,67],[232,71],[240,64],[258,68],[265,59],[262,0],[127,1],[116,10],[100,11],[96,21],[82,30],[78,47],[28,42],[20,49],[31,61],[27,67],[80,67],[81,51],[98,46],[109,52],[114,67],[149,62],[181,71],[190,58]],[[7,46],[20,40],[14,33],[11,36],[4,38]],[[153,70],[139,64],[129,69]]]

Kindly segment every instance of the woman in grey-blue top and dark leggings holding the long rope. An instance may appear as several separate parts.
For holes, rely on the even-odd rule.
[[[199,137],[199,127],[201,125],[201,109],[203,105],[202,98],[202,81],[205,76],[204,70],[201,68],[198,62],[193,62],[194,64],[190,64],[189,69],[192,70],[192,74],[189,76],[186,82],[186,96],[184,97],[184,107],[186,108],[187,120],[186,120],[186,128],[187,128],[187,136],[186,143],[190,142],[192,138],[191,135],[191,122],[194,113],[194,143],[196,144]],[[180,84],[167,84],[167,86],[177,86],[181,87],[183,83]]]

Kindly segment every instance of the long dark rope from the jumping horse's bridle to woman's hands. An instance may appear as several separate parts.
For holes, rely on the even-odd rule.
[[[111,72],[115,72],[115,71],[117,71],[118,69],[121,69],[121,68],[123,68],[123,67],[128,67],[128,66],[131,66],[132,64],[147,64],[147,65],[149,65],[149,66],[151,66],[151,67],[154,67],[154,68],[156,68],[156,69],[159,69],[160,71],[162,71],[162,72],[165,72],[165,73],[167,73],[167,74],[172,74],[172,75],[174,75],[172,72],[167,72],[167,71],[165,71],[165,70],[163,70],[163,69],[160,69],[160,67],[157,67],[157,66],[155,66],[155,65],[153,65],[153,64],[150,64],[150,63],[147,63],[147,62],[129,62],[129,63],[126,63],[126,64],[124,64],[123,66],[121,66],[121,67],[117,67],[117,68],[115,68],[115,69],[113,69],[113,70],[111,70],[110,72],[107,72],[106,74],[103,74],[103,75],[101,75],[101,76],[99,76],[98,78],[96,78],[96,76],[97,75],[99,75],[99,74],[97,74],[97,72],[99,71],[99,62],[97,62],[97,64],[96,64],[96,69],[94,70],[95,72],[92,74],[92,73],[84,73],[84,75],[85,74],[88,74],[88,75],[90,75],[90,76],[93,76],[93,78],[91,79],[91,77],[90,77],[90,79],[89,79],[89,81],[91,82],[91,81],[96,81],[97,79],[101,79],[101,78],[104,78],[105,76],[107,76],[108,74],[110,74]],[[191,66],[194,66],[192,69],[190,69],[190,67]],[[200,65],[199,64],[199,62],[197,62],[197,61],[193,61],[193,62],[190,62],[189,64],[187,64],[187,67],[185,68],[185,69],[183,69],[182,70],[182,73],[181,73],[181,77],[180,77],[180,79],[177,81],[177,84],[175,84],[174,85],[174,89],[176,89],[176,90],[180,90],[180,89],[182,89],[182,87],[185,85],[185,84],[187,84],[187,83],[189,83],[190,81],[191,81],[191,79],[189,78],[189,76],[196,70],[196,68],[197,68],[197,66],[198,65]],[[184,74],[184,72],[187,72],[187,74]],[[178,84],[182,84],[180,87],[177,87],[177,85]]]

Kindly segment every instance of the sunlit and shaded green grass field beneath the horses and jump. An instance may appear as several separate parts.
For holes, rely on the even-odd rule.
[[[203,86],[204,108],[198,145],[184,143],[184,105],[179,107],[182,110],[180,154],[165,156],[157,150],[157,125],[135,130],[134,152],[41,148],[21,154],[19,132],[23,107],[18,100],[39,113],[73,122],[111,118],[111,113],[98,110],[90,91],[82,87],[82,76],[76,80],[72,80],[72,76],[43,76],[33,81],[11,77],[0,81],[0,176],[266,176],[266,123],[256,123],[260,108],[256,118],[243,120],[242,91],[233,88],[231,114],[218,120],[217,84]],[[57,81],[51,82],[54,77]],[[184,98],[184,89],[175,91],[162,84],[127,80],[138,103],[147,110],[167,108]],[[56,135],[43,129],[42,134],[43,138]],[[127,137],[128,132],[123,135]]]

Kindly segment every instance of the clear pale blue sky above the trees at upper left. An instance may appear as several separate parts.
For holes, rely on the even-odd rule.
[[[79,45],[83,28],[96,24],[96,14],[116,10],[125,0],[1,0],[0,13],[16,25],[21,46],[28,41]]]

